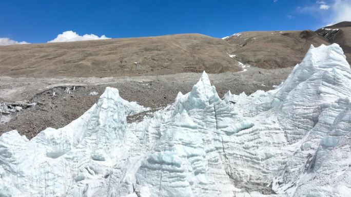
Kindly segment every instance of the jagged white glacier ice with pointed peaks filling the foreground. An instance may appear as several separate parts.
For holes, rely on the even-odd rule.
[[[0,196],[349,196],[351,70],[311,47],[276,90],[221,99],[206,73],[152,118],[107,88],[69,125],[0,137]]]

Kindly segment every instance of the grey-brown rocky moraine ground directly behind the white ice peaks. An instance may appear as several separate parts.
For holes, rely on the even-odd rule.
[[[210,76],[222,97],[228,90],[235,94],[251,94],[274,89],[273,86],[280,84],[290,71],[291,68],[264,70],[250,67],[246,72]],[[86,112],[107,86],[118,88],[122,98],[154,111],[174,102],[178,92],[191,91],[198,77],[198,73],[103,78],[0,77],[0,135],[16,129],[31,139],[46,127],[63,127]],[[3,116],[2,103],[8,108]],[[23,103],[36,105],[28,107],[21,105]],[[18,106],[23,110],[14,112]]]

